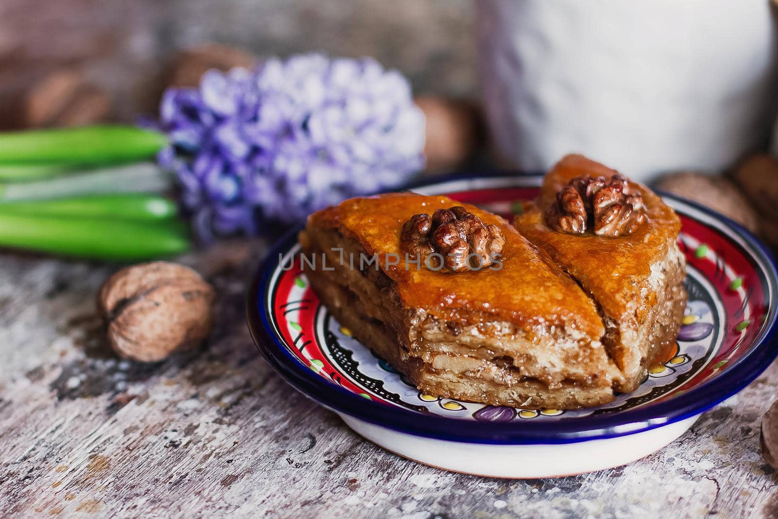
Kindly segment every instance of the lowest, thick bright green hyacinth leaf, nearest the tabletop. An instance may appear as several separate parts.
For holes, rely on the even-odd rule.
[[[142,223],[2,214],[0,247],[138,261],[183,253],[190,242],[187,227],[177,220]]]

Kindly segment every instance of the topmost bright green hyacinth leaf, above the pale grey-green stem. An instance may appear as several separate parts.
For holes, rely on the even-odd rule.
[[[0,163],[84,165],[149,159],[167,146],[163,133],[103,125],[0,133]]]

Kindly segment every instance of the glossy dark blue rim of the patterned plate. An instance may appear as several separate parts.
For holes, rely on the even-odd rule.
[[[435,177],[426,182],[418,182],[406,189],[429,188],[450,181],[489,181],[511,176],[516,176],[516,172],[479,175],[454,174]],[[521,174],[520,176],[533,177],[538,175]],[[778,272],[776,272],[776,262],[773,255],[750,231],[726,216],[696,202],[665,192],[661,192],[661,195],[690,205],[707,216],[717,219],[724,226],[728,226],[733,233],[739,235],[761,256],[761,258],[756,258],[758,265],[764,267],[766,275],[773,281],[773,286],[778,285]],[[427,415],[380,402],[368,401],[343,387],[331,384],[323,377],[310,371],[272,333],[273,327],[268,319],[270,309],[264,304],[265,290],[272,273],[275,271],[275,266],[278,265],[279,253],[286,252],[289,247],[296,243],[296,235],[301,229],[302,226],[294,227],[276,242],[265,260],[259,265],[252,279],[247,293],[247,324],[254,344],[273,369],[307,398],[333,412],[343,413],[401,433],[437,440],[501,445],[574,444],[588,440],[622,437],[653,430],[692,416],[699,416],[751,384],[778,357],[778,310],[773,304],[770,309],[772,315],[768,316],[769,324],[766,334],[758,345],[752,347],[752,351],[735,361],[734,365],[729,366],[717,377],[689,389],[682,395],[677,395],[663,402],[643,405],[636,409],[598,416],[583,416],[579,419],[558,422],[485,423]],[[754,366],[757,368],[754,369]]]

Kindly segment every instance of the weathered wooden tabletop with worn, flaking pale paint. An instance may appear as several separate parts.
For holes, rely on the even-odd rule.
[[[115,267],[0,255],[0,516],[778,517],[759,420],[778,365],[664,450],[562,479],[418,465],[297,394],[259,356],[244,290],[264,246],[185,260],[219,292],[208,345],[114,357],[94,294]]]

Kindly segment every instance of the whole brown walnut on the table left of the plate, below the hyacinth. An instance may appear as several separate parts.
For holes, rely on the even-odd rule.
[[[154,261],[122,268],[103,284],[97,310],[119,356],[156,362],[211,331],[215,293],[191,268]]]

